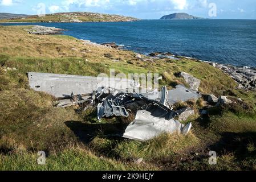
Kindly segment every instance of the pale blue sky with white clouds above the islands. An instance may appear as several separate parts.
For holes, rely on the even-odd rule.
[[[44,7],[40,3],[46,13],[90,11],[159,19],[162,15],[184,12],[205,18],[256,19],[255,0],[0,0],[0,12],[37,14]],[[217,16],[210,17],[213,3]]]

